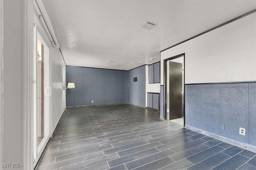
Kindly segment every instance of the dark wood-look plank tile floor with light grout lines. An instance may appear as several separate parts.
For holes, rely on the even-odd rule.
[[[256,170],[256,153],[132,105],[64,112],[37,170]]]

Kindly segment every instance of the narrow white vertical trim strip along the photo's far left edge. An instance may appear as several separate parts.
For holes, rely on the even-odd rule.
[[[0,0],[0,162],[3,163],[3,131],[4,131],[4,64],[3,64],[3,0]],[[0,170],[2,170],[2,166]]]

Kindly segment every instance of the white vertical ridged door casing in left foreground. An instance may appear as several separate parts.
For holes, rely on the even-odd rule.
[[[33,0],[21,1],[22,162],[33,169]]]

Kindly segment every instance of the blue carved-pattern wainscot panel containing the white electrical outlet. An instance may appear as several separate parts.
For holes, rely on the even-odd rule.
[[[221,135],[248,143],[248,133],[239,135],[239,127],[248,129],[248,83],[221,84]]]

